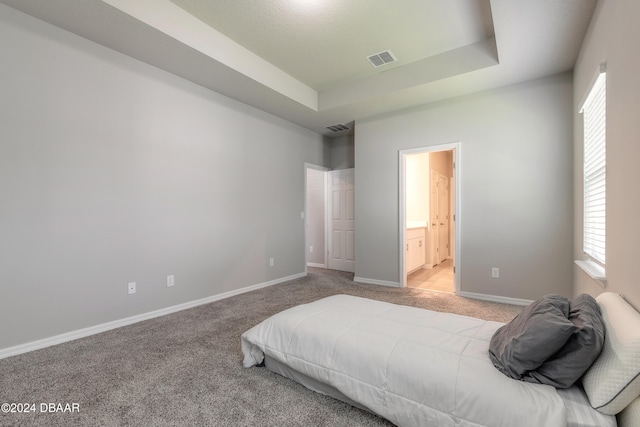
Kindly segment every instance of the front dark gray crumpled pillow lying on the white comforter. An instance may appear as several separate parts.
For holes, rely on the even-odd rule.
[[[491,337],[494,366],[518,380],[541,366],[576,331],[569,310],[569,299],[562,295],[545,295],[531,303]]]

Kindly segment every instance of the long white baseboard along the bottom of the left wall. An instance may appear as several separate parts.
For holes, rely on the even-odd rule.
[[[167,314],[176,313],[178,311],[187,310],[197,307],[199,305],[209,304],[215,301],[220,301],[235,295],[243,294],[246,292],[254,291],[256,289],[265,288],[267,286],[277,285],[278,283],[286,282],[289,280],[298,279],[306,276],[306,273],[294,274],[288,277],[282,277],[280,279],[271,280],[269,282],[259,283],[257,285],[247,286],[245,288],[236,289],[229,292],[224,292],[218,295],[202,298],[195,301],[185,302],[183,304],[174,305],[171,307],[161,308],[159,310],[150,311],[148,313],[138,314],[124,319],[114,320],[112,322],[102,323],[100,325],[90,326],[88,328],[78,329],[71,332],[66,332],[60,335],[54,335],[49,338],[43,338],[36,341],[31,341],[25,344],[16,345],[13,347],[7,347],[0,349],[0,359],[4,359],[11,356],[17,356],[18,354],[28,353],[30,351],[39,350],[52,345],[62,344],[69,341],[74,341],[79,338],[88,337],[91,335],[99,334],[101,332],[110,331],[112,329],[121,328],[123,326],[131,325],[133,323],[142,322],[143,320],[149,320]]]

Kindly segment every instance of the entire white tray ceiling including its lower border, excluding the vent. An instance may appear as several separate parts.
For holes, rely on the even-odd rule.
[[[0,0],[322,134],[572,70],[596,0]],[[367,57],[391,50],[396,62]]]

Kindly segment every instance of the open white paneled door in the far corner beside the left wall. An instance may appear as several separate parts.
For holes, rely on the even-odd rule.
[[[329,268],[355,271],[354,169],[329,171]]]

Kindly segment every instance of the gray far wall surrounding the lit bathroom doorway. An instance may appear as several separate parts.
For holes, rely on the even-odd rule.
[[[356,277],[400,280],[398,150],[459,141],[461,290],[571,294],[572,99],[565,73],[357,122]]]

